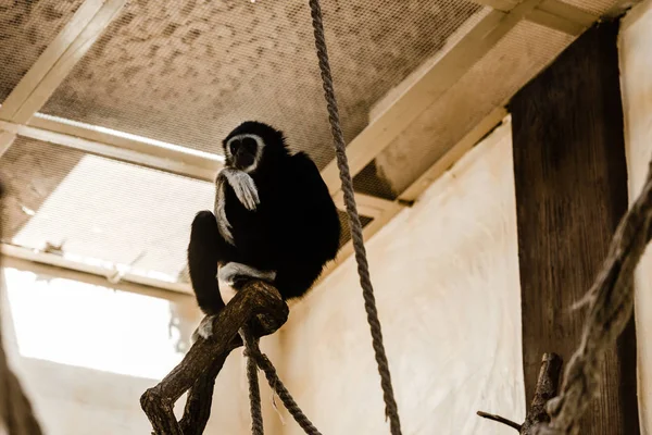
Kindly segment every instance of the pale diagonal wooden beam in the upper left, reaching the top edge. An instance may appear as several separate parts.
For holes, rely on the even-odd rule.
[[[86,0],[0,108],[0,119],[26,123],[84,58],[126,0]]]

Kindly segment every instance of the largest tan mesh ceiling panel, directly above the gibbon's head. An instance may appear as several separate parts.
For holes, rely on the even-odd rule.
[[[464,0],[324,1],[343,129],[481,8]],[[129,2],[43,108],[51,115],[209,152],[238,123],[334,157],[308,2]]]

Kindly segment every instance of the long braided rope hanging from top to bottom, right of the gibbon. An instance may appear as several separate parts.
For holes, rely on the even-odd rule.
[[[330,74],[330,65],[328,62],[328,51],[326,48],[326,38],[324,34],[324,23],[322,17],[322,8],[319,0],[310,0],[310,9],[313,21],[313,29],[315,35],[315,48],[319,60],[319,70],[322,72],[322,80],[324,84],[324,96],[326,98],[328,109],[328,120],[330,121],[330,130],[333,133],[335,153],[337,157],[337,166],[340,172],[340,181],[342,183],[342,191],[344,194],[344,204],[349,214],[351,226],[351,238],[355,250],[355,260],[358,262],[358,274],[360,275],[360,284],[362,286],[362,295],[364,297],[364,307],[367,313],[367,321],[372,332],[372,343],[376,355],[376,363],[378,364],[378,373],[380,374],[380,385],[383,387],[385,399],[385,414],[390,420],[392,435],[401,434],[401,423],[399,420],[399,410],[393,395],[391,385],[391,375],[389,373],[389,364],[385,346],[383,345],[383,331],[378,321],[378,311],[376,310],[376,298],[374,297],[374,287],[369,277],[369,266],[366,259],[366,249],[362,237],[362,224],[358,215],[355,198],[353,196],[353,181],[349,171],[349,161],[347,159],[347,146],[344,136],[340,126],[339,110],[337,99],[333,87],[333,76]]]

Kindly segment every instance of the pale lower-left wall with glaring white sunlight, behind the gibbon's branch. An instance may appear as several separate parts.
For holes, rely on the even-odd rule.
[[[0,272],[0,288],[4,347],[46,434],[151,432],[139,398],[180,361],[177,346],[188,345],[201,319],[192,298],[114,291],[13,269]],[[262,348],[269,351],[275,339],[264,338]],[[183,406],[181,398],[177,415]],[[271,401],[263,406],[266,433],[278,434]],[[217,378],[205,431],[223,433],[251,433],[240,351]]]

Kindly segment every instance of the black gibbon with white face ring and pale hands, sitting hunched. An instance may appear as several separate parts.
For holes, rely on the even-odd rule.
[[[341,231],[317,166],[303,152],[291,154],[283,133],[249,121],[222,145],[215,214],[195,216],[188,246],[192,288],[209,316],[243,279],[267,281],[286,300],[303,296],[335,259]],[[197,333],[208,338],[211,325],[202,322]]]

